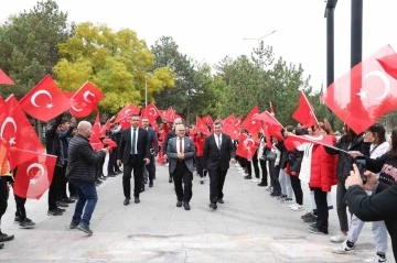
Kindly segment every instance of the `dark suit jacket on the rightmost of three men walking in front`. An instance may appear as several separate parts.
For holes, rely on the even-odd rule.
[[[215,142],[215,135],[211,134],[205,139],[204,144],[204,167],[206,169],[228,169],[229,168],[229,161],[230,158],[235,158],[236,152],[235,147],[232,143],[232,139],[222,133],[222,142],[221,142],[221,150],[217,147]]]

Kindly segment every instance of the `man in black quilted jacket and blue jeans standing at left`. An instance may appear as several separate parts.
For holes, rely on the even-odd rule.
[[[93,125],[88,121],[81,121],[77,125],[77,134],[68,145],[68,164],[66,177],[77,191],[78,200],[72,218],[71,229],[93,234],[89,221],[93,216],[98,196],[95,187],[95,165],[105,157],[109,150],[94,151],[89,144]],[[84,209],[84,212],[83,212]]]

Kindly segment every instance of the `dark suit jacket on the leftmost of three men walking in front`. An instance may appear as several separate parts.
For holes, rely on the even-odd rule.
[[[131,128],[128,128],[121,132],[120,143],[118,145],[117,160],[121,160],[124,164],[128,163],[131,154]],[[138,128],[138,160],[140,164],[144,164],[143,158],[150,160],[150,142],[147,130]]]

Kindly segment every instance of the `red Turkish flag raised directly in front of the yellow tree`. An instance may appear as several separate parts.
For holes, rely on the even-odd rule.
[[[101,90],[94,84],[86,81],[71,99],[71,113],[82,118],[88,116],[93,110],[98,110],[97,105],[104,98]]]

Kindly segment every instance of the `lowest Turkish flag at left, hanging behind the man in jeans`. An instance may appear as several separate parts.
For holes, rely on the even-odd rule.
[[[56,156],[39,153],[31,161],[20,164],[13,185],[14,194],[22,198],[40,199],[51,185],[55,163]]]

